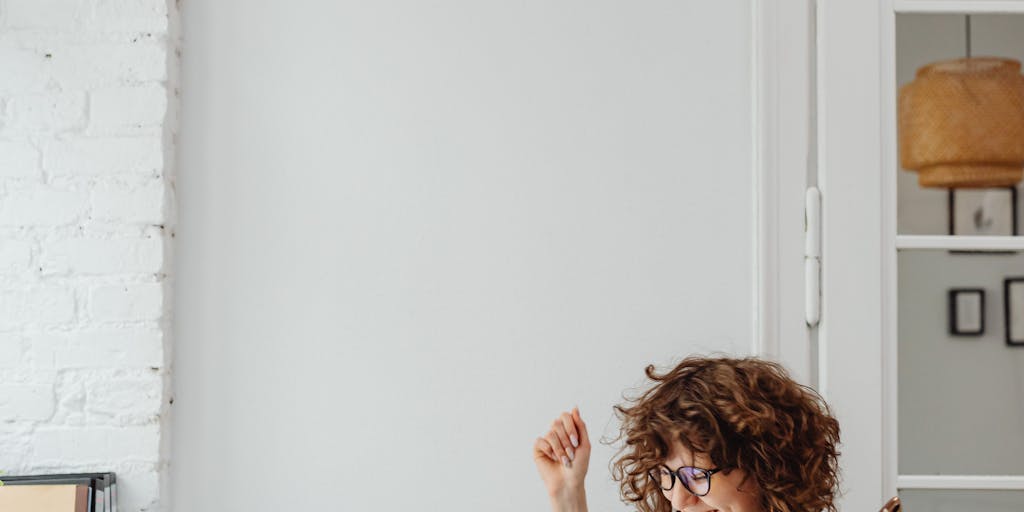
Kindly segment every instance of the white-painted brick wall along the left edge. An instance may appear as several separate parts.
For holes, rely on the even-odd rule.
[[[166,511],[175,0],[0,0],[0,471]]]

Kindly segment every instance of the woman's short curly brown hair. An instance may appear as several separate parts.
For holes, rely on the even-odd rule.
[[[615,406],[626,442],[611,464],[623,501],[641,512],[670,512],[647,471],[678,440],[716,467],[740,469],[771,512],[836,512],[839,422],[813,389],[781,366],[754,357],[687,357],[654,386]],[[745,481],[745,480],[744,480]]]

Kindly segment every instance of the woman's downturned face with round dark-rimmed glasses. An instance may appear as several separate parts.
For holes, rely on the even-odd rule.
[[[680,466],[716,469],[711,459],[702,454],[690,452],[679,441],[672,446],[665,465],[672,471]],[[662,493],[672,502],[673,510],[680,512],[764,512],[761,509],[761,489],[754,478],[744,482],[745,476],[746,473],[739,469],[733,469],[728,473],[719,471],[711,477],[711,490],[701,497],[693,496],[686,490],[678,478],[672,489]]]

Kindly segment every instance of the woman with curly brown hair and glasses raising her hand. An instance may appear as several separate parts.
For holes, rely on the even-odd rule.
[[[624,406],[612,463],[623,500],[641,512],[836,512],[839,423],[782,367],[689,357],[645,371],[653,387]],[[534,444],[556,512],[587,510],[590,436],[563,413]]]

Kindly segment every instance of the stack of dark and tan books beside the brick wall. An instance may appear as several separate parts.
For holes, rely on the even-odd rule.
[[[117,512],[114,473],[0,475],[3,512]]]

